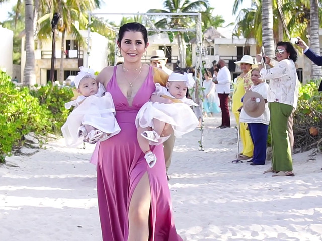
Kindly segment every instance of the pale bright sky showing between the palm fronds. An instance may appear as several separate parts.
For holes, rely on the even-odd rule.
[[[103,13],[145,13],[147,10],[155,8],[162,9],[162,2],[160,0],[157,1],[146,1],[146,0],[120,0],[118,2],[111,3],[110,0],[105,0],[105,4],[99,10]],[[222,1],[219,0],[209,0],[210,6],[215,8],[214,14],[222,15],[226,21],[226,23],[235,22],[236,16],[232,15],[232,6],[234,0],[225,0],[222,4]],[[251,0],[243,1],[243,8],[250,7]],[[8,11],[11,10],[12,6],[17,3],[17,0],[10,0],[7,3],[1,4],[0,6],[0,21],[6,20]],[[96,11],[95,11],[96,12]],[[120,17],[116,15],[111,16],[111,19],[117,21]]]

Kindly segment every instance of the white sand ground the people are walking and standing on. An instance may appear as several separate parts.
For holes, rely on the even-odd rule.
[[[237,131],[218,125],[219,115],[205,120],[205,151],[199,130],[176,140],[169,187],[183,239],[322,240],[322,155],[295,154],[296,176],[272,177],[270,162],[231,163]],[[0,240],[102,240],[92,151],[59,139],[7,158],[19,167],[0,166]]]

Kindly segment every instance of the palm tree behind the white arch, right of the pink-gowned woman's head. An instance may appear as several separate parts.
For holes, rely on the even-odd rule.
[[[163,2],[164,9],[150,9],[148,12],[150,13],[194,13],[194,12],[202,12],[203,8],[207,9],[209,7],[208,0],[197,0],[191,2],[189,0],[181,1],[181,0],[165,0]],[[188,28],[192,25],[192,19],[189,17],[182,17],[180,15],[168,16],[164,17],[155,23],[155,27],[160,27],[164,29],[177,29],[177,28]],[[180,67],[186,67],[185,61],[185,50],[182,50],[183,43],[183,33],[182,32],[174,32],[169,33],[168,35],[171,38],[171,35],[174,34],[177,38],[177,43],[179,46],[179,61]]]

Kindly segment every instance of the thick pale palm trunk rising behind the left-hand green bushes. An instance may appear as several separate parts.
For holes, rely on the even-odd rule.
[[[24,69],[24,85],[36,84],[33,17],[33,0],[25,0],[26,63]]]

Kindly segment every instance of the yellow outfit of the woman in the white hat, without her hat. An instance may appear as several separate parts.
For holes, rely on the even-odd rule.
[[[241,98],[243,98],[246,90],[251,87],[253,84],[251,80],[251,70],[247,72],[244,76],[238,76],[237,81],[234,85],[234,92],[232,95],[232,112],[235,115],[235,119],[237,124],[239,123],[240,113],[238,109],[243,106],[243,102],[241,102]],[[243,150],[241,153],[244,156],[252,157],[254,152],[254,144],[250,135],[250,132],[246,130],[247,123],[240,123],[240,138],[243,143]]]

